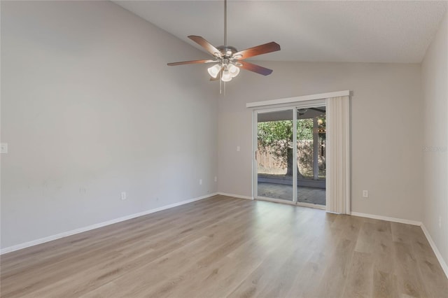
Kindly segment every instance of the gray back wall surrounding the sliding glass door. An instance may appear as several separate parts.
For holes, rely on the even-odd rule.
[[[219,101],[220,192],[251,196],[252,116],[246,103],[351,90],[351,210],[421,220],[419,64],[258,64],[274,72],[265,78],[241,71]]]

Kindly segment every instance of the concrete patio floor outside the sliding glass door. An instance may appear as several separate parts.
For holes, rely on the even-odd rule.
[[[293,201],[293,186],[276,183],[258,183],[258,197]],[[325,206],[325,189],[297,187],[297,201]]]

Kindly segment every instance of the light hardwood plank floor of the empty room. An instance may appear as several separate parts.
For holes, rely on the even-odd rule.
[[[420,227],[216,196],[1,256],[1,297],[448,297]]]

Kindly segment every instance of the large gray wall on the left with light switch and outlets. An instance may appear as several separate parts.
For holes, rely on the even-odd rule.
[[[218,88],[166,65],[196,57],[108,1],[1,1],[1,248],[216,192]]]

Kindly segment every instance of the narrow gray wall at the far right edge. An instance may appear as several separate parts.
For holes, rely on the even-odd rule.
[[[423,225],[448,264],[448,20],[445,15],[422,64]],[[439,225],[440,223],[440,225]]]

